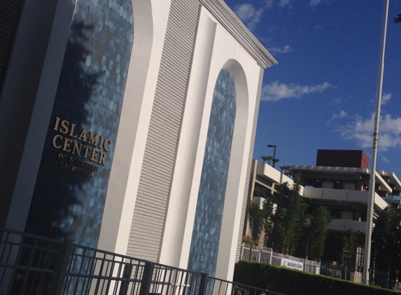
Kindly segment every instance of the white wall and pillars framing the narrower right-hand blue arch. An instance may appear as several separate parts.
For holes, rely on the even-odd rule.
[[[213,48],[211,48],[213,46]],[[237,116],[227,179],[216,276],[232,279],[260,66],[213,16],[202,8],[178,145],[160,262],[188,266],[213,91],[222,69],[230,71]]]

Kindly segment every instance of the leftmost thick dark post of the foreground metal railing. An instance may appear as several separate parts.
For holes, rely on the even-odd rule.
[[[69,252],[70,247],[67,244],[59,245],[57,260],[55,264],[55,272],[52,275],[52,282],[50,284],[50,293],[59,295],[62,294],[62,287],[64,285],[64,278],[66,269],[69,265]]]

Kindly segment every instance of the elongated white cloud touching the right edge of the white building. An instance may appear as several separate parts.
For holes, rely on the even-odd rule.
[[[275,81],[269,85],[263,86],[262,100],[263,101],[279,101],[280,99],[300,98],[311,93],[321,93],[332,87],[329,82],[324,82],[321,85],[294,85]]]

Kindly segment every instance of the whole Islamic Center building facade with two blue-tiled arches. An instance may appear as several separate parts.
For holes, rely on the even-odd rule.
[[[0,226],[232,278],[275,59],[223,1],[50,2],[1,29]]]

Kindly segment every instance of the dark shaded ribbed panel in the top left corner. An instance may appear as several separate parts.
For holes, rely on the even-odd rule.
[[[0,89],[22,9],[22,0],[0,1]]]

